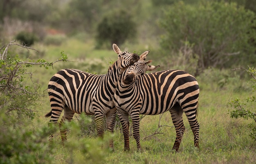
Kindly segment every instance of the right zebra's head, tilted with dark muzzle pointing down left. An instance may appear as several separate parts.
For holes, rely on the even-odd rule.
[[[152,60],[147,62],[145,61],[148,53],[149,51],[142,53],[139,57],[139,60],[126,70],[123,78],[124,84],[131,84],[132,82],[135,82],[139,76],[144,75],[146,71],[153,71],[159,68],[159,65],[148,65],[148,63],[152,62]]]

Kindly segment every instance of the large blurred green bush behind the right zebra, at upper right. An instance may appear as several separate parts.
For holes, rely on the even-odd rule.
[[[166,30],[161,47],[170,53],[180,49],[184,42],[193,44],[193,53],[199,56],[199,73],[209,66],[230,67],[243,60],[253,64],[255,46],[249,40],[256,39],[254,18],[252,11],[235,3],[202,1],[188,5],[177,2],[166,9],[160,21]]]

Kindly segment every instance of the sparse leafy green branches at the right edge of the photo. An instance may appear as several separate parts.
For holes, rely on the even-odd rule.
[[[252,88],[253,91],[256,91],[256,69],[254,69],[253,67],[249,67],[249,69],[245,69],[249,75],[251,75],[253,78],[250,80],[252,82]],[[247,103],[252,103],[252,102],[256,102],[256,97],[252,96],[247,98]],[[240,99],[236,98],[235,100],[232,100],[231,102],[229,102],[229,104],[231,106],[234,106],[235,110],[230,111],[229,114],[232,118],[238,118],[238,117],[243,117],[244,119],[248,120],[249,119],[253,119],[256,123],[256,112],[254,111],[254,109],[246,109],[244,106],[246,106],[246,103],[241,102]],[[254,140],[254,142],[256,141],[256,124],[252,124],[249,123],[248,127],[250,129],[250,134],[249,136]]]

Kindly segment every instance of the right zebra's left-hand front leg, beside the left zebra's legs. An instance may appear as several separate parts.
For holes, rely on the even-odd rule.
[[[122,113],[117,110],[117,115],[122,125],[123,135],[124,135],[124,151],[130,150],[129,144],[129,115],[126,111],[122,111]]]

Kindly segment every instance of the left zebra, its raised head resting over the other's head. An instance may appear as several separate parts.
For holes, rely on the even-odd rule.
[[[105,75],[94,75],[76,69],[62,69],[52,76],[48,84],[51,111],[45,117],[51,116],[49,124],[56,124],[64,110],[59,123],[61,140],[64,144],[66,129],[62,124],[71,121],[74,113],[95,115],[97,132],[103,137],[103,117],[106,116],[108,131],[113,132],[117,110],[113,96],[119,75],[131,64],[139,60],[135,53],[122,52],[116,44],[113,50],[118,54],[117,61],[109,67]],[[52,140],[50,135],[49,140]],[[110,147],[113,143],[110,141]]]

